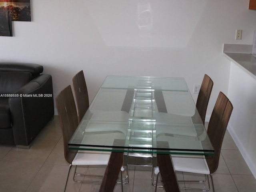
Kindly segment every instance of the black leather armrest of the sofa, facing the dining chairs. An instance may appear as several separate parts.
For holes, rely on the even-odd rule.
[[[9,98],[14,143],[29,146],[54,116],[52,76],[41,74]]]

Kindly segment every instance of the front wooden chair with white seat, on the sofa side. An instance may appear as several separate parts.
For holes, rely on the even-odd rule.
[[[68,176],[66,179],[65,189],[68,182],[68,177],[70,174],[70,169],[74,165],[76,166],[88,166],[88,165],[107,165],[110,152],[96,152],[96,151],[84,151],[84,150],[70,150],[68,147],[68,142],[74,134],[77,126],[78,126],[78,116],[76,112],[76,105],[74,101],[74,97],[72,94],[71,86],[67,86],[64,88],[56,97],[56,105],[58,109],[58,114],[60,118],[60,125],[62,128],[63,134],[63,144],[64,144],[64,156],[66,161],[70,164],[68,170]],[[92,181],[92,180],[76,180],[76,168],[73,176],[73,180],[75,182],[101,182],[100,181]],[[85,176],[97,176],[98,175],[88,175],[88,174],[80,174]],[[121,171],[122,178],[122,171]],[[121,180],[122,183],[122,180]]]

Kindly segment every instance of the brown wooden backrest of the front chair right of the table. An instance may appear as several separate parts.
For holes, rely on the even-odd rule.
[[[222,141],[232,110],[232,103],[222,92],[220,92],[207,129],[207,134],[214,147],[214,155],[206,156],[206,162],[210,169],[210,173],[214,173],[218,168]]]

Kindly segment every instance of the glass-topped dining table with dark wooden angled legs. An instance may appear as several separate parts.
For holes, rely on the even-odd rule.
[[[137,162],[159,166],[165,190],[179,191],[170,154],[214,154],[184,78],[107,76],[68,145],[111,152],[102,192]]]

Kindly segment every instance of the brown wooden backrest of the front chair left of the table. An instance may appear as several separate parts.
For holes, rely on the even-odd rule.
[[[60,126],[63,134],[64,156],[69,164],[72,164],[77,150],[70,150],[68,142],[78,126],[76,104],[71,86],[64,88],[56,97],[56,105],[60,118]]]

